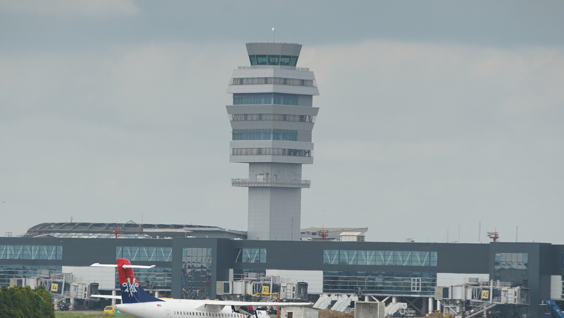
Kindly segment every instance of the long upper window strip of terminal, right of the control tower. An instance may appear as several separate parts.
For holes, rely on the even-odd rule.
[[[323,264],[437,266],[437,252],[324,250]]]

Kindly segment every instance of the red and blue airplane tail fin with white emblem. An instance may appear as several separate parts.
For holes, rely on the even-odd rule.
[[[130,303],[146,303],[146,302],[162,302],[164,300],[152,297],[147,294],[143,287],[139,284],[133,273],[133,268],[152,268],[153,266],[131,265],[129,260],[118,258],[117,274],[120,277],[121,302]]]

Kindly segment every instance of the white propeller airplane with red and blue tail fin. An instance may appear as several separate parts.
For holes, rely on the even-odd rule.
[[[312,306],[313,303],[241,302],[235,300],[196,300],[156,298],[143,290],[135,278],[133,268],[153,268],[155,265],[131,265],[129,260],[118,258],[117,264],[94,263],[92,267],[116,267],[120,278],[121,297],[90,295],[98,298],[121,299],[114,309],[135,318],[268,318],[262,307]]]

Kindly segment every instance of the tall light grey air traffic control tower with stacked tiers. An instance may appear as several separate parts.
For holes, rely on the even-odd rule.
[[[250,66],[235,69],[227,106],[231,121],[230,162],[249,164],[249,178],[231,179],[249,188],[248,239],[300,238],[302,164],[313,163],[311,130],[319,108],[315,76],[296,67],[301,44],[247,43]]]

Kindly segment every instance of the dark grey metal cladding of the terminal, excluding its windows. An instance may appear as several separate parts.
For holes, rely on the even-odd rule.
[[[0,265],[68,265],[89,266],[92,263],[113,264],[117,246],[171,247],[172,262],[135,262],[140,265],[172,269],[171,294],[180,297],[182,250],[186,247],[210,247],[212,255],[211,287],[228,280],[230,269],[289,269],[315,271],[395,271],[429,273],[489,273],[495,275],[495,255],[528,254],[528,287],[531,305],[550,296],[550,276],[564,275],[564,245],[548,243],[485,244],[404,243],[404,242],[333,242],[333,241],[247,241],[225,238],[173,239],[96,239],[96,238],[0,238],[0,245],[61,245],[61,260],[0,259]],[[235,263],[233,249],[263,248],[266,263]],[[324,250],[435,251],[437,266],[346,265],[323,264]],[[531,317],[540,315],[539,306],[530,307]]]

